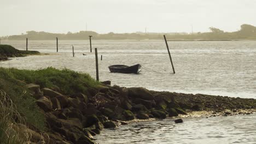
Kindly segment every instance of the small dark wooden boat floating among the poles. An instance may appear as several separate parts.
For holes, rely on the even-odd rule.
[[[124,74],[138,74],[141,71],[141,64],[136,64],[132,66],[127,65],[110,65],[110,73],[124,73]]]

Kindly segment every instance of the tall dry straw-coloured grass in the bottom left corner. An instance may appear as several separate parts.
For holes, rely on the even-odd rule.
[[[4,92],[0,91],[0,143],[1,144],[23,144],[28,142],[29,135],[25,129],[19,127],[25,124],[17,111],[16,105]]]

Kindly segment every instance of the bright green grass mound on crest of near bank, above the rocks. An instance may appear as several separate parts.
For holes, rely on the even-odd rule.
[[[39,70],[18,70],[15,68],[0,68],[0,75],[7,75],[13,79],[26,83],[35,83],[44,88],[56,88],[63,94],[72,95],[77,92],[86,93],[88,88],[97,87],[99,82],[89,74],[81,74],[68,69],[46,68]],[[5,71],[3,73],[3,71]]]

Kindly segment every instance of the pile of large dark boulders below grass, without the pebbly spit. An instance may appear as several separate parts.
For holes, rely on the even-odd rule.
[[[88,93],[63,95],[29,84],[32,97],[44,112],[47,132],[28,129],[32,142],[95,143],[103,128],[115,128],[132,119],[166,118],[186,114],[173,95],[153,95],[145,88],[101,85]]]

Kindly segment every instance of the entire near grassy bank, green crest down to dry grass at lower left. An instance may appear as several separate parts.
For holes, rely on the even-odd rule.
[[[15,52],[15,51],[14,51]],[[24,135],[20,130],[10,128],[10,125],[23,123],[28,127],[38,130],[46,130],[45,117],[42,110],[36,105],[36,99],[27,89],[27,83],[35,83],[41,88],[48,87],[58,89],[63,94],[71,95],[76,92],[86,93],[89,87],[97,87],[98,82],[88,74],[80,74],[75,71],[55,68],[40,70],[19,70],[0,68],[0,141],[5,143],[10,139],[10,131],[16,137],[11,138],[14,143],[23,143]],[[16,132],[15,132],[16,131]],[[1,142],[0,142],[1,143]]]

